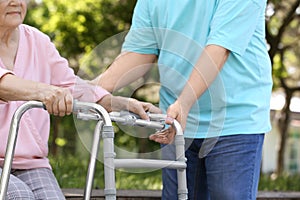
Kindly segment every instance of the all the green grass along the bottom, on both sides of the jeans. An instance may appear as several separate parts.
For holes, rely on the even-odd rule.
[[[84,188],[88,160],[74,155],[50,157],[55,176],[62,188]],[[124,172],[116,170],[117,189],[157,190],[161,189],[161,171]],[[262,174],[259,182],[260,191],[300,191],[300,174],[284,174],[276,177]],[[104,188],[104,170],[101,162],[97,163],[94,188]]]

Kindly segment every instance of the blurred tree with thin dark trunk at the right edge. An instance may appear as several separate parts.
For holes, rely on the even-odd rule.
[[[276,173],[284,170],[284,152],[291,120],[290,103],[300,91],[300,0],[269,0],[266,39],[273,64],[274,89],[281,88],[285,105],[277,120],[280,144]]]

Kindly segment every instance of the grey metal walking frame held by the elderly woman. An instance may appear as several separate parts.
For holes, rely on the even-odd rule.
[[[44,105],[38,101],[28,101],[21,105],[11,121],[9,137],[5,153],[5,160],[0,179],[0,200],[4,200],[7,193],[9,176],[11,172],[12,160],[15,151],[15,145],[18,136],[19,122],[22,115],[31,108],[44,108]],[[104,195],[106,200],[115,200],[117,196],[115,184],[115,169],[117,168],[170,168],[177,170],[178,179],[178,199],[187,199],[186,183],[186,158],[184,154],[184,137],[180,124],[175,120],[172,125],[176,131],[175,160],[161,159],[116,159],[114,152],[114,129],[112,122],[118,122],[128,126],[141,126],[152,129],[163,129],[165,127],[163,114],[149,113],[150,121],[142,120],[136,115],[121,111],[107,113],[100,105],[75,101],[73,114],[81,120],[96,120],[97,125],[94,130],[94,138],[91,149],[90,161],[84,189],[84,199],[91,198],[93,179],[95,174],[96,159],[98,156],[100,139],[103,139],[103,163],[104,163]]]

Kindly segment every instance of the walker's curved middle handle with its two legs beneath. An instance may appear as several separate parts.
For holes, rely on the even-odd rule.
[[[93,112],[91,112],[93,111]],[[96,112],[96,113],[95,113]],[[84,190],[84,199],[89,200],[92,193],[92,186],[96,168],[100,139],[103,139],[104,151],[104,176],[105,176],[105,199],[116,199],[115,166],[114,166],[114,129],[109,114],[98,104],[76,102],[73,113],[77,118],[83,120],[97,120],[98,123],[94,132],[94,140],[88,167],[86,186]]]

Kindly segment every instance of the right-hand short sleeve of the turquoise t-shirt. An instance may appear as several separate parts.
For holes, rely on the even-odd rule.
[[[253,36],[265,1],[222,0],[211,21],[207,45],[215,44],[242,55]]]

